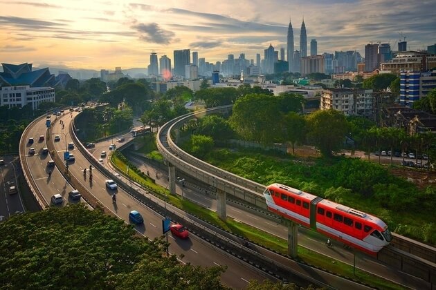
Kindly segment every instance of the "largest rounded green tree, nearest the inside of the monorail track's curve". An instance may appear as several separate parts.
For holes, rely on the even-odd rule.
[[[246,95],[237,99],[230,117],[232,128],[246,140],[264,144],[280,137],[280,99],[270,95]]]

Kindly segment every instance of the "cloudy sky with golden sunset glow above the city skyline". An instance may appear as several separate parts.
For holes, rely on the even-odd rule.
[[[0,0],[0,62],[58,68],[146,68],[149,55],[189,48],[215,63],[286,48],[289,20],[300,49],[302,17],[318,54],[390,43],[436,43],[436,0]]]

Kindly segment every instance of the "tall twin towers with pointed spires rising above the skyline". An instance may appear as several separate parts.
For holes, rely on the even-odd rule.
[[[291,19],[289,19],[288,38],[287,38],[287,57],[289,72],[300,72],[300,58],[307,57],[307,35],[305,19],[303,18],[300,30],[300,51],[293,50],[293,29]]]

